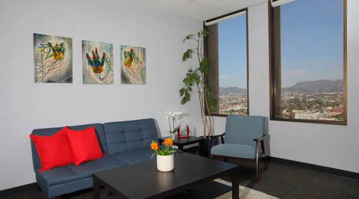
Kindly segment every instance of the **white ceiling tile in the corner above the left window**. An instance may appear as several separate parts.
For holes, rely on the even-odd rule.
[[[225,10],[221,10],[219,8],[215,8],[196,1],[186,3],[173,9],[172,11],[182,16],[198,20],[207,20],[227,13]]]

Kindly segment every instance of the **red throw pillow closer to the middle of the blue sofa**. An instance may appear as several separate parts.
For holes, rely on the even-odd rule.
[[[67,137],[72,148],[76,166],[82,162],[96,160],[104,155],[101,151],[94,126],[83,130],[69,129]]]

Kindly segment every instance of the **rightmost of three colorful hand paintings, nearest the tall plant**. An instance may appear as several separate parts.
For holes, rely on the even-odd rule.
[[[146,84],[146,48],[121,45],[121,84]]]

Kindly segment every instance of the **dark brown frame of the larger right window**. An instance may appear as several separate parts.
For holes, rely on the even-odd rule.
[[[278,6],[280,9],[280,5]],[[268,1],[268,24],[269,24],[269,100],[270,100],[270,120],[274,121],[290,121],[290,122],[302,122],[302,123],[317,123],[317,124],[333,124],[333,125],[347,125],[347,0],[343,0],[343,48],[344,48],[344,56],[343,56],[343,121],[331,121],[331,120],[311,120],[311,119],[295,119],[295,118],[282,118],[275,117],[275,48],[274,48],[274,32],[275,27],[273,21],[274,19],[274,9],[272,7],[271,1]],[[280,18],[279,18],[280,20]],[[280,28],[280,27],[279,27]],[[280,31],[280,30],[279,30]]]

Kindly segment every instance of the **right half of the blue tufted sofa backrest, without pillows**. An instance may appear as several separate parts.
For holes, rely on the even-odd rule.
[[[150,147],[152,140],[158,142],[154,119],[108,122],[103,126],[109,154]]]

